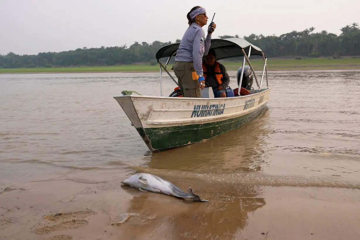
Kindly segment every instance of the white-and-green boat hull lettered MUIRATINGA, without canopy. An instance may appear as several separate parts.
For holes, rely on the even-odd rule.
[[[152,151],[200,142],[232,130],[259,114],[270,89],[232,98],[114,96]]]

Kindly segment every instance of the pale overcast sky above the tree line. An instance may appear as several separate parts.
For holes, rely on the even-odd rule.
[[[279,36],[312,26],[339,34],[347,24],[360,25],[360,0],[0,0],[0,54],[174,42],[196,5],[206,9],[208,23],[216,12],[212,38]]]

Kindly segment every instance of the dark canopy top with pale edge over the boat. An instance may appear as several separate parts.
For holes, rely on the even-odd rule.
[[[156,53],[156,60],[159,61],[160,58],[168,58],[172,54],[176,56],[176,51],[179,48],[179,43],[174,43],[166,45],[159,49]],[[229,38],[229,39],[212,39],[210,49],[215,50],[216,60],[225,59],[225,58],[235,58],[244,56],[242,49],[245,53],[249,55],[249,48],[251,46],[251,55],[263,55],[262,50],[249,43],[248,41],[240,38]],[[264,57],[266,58],[265,54]]]

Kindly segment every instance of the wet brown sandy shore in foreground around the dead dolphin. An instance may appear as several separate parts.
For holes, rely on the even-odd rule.
[[[214,184],[168,177],[209,203],[77,173],[1,183],[0,239],[359,239],[359,190]],[[84,180],[80,180],[84,179]],[[88,180],[86,180],[88,179]],[[93,183],[89,183],[92,179]],[[230,197],[229,197],[230,196]],[[117,225],[121,214],[136,213]]]

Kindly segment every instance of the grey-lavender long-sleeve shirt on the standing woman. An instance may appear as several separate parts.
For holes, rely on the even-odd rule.
[[[211,35],[208,34],[205,41],[204,36],[204,30],[198,24],[192,23],[185,31],[175,57],[175,61],[194,62],[198,75],[203,74],[202,58],[207,55],[211,44]]]

